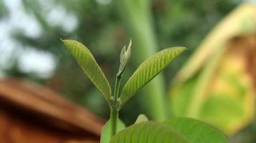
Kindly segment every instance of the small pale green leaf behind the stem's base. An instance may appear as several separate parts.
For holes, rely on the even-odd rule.
[[[118,119],[117,132],[125,129],[125,124]],[[110,142],[110,120],[103,126],[103,130],[100,136],[100,143],[109,143]]]

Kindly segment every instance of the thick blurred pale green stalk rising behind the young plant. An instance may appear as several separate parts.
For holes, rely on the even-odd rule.
[[[116,0],[115,4],[125,26],[133,37],[134,56],[131,60],[135,64],[141,64],[142,61],[158,51],[151,17],[151,0]],[[141,106],[147,110],[151,119],[157,121],[168,119],[162,74],[159,74],[144,87],[141,93],[143,101],[146,101]]]

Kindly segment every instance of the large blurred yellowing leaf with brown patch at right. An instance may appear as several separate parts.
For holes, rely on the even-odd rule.
[[[202,41],[174,78],[169,94],[175,116],[202,119],[229,135],[251,124],[256,94],[255,13],[254,4],[241,4]]]

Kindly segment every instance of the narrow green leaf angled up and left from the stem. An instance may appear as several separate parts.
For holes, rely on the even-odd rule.
[[[62,40],[75,57],[77,63],[81,66],[85,74],[93,82],[95,87],[99,89],[103,97],[110,104],[111,89],[105,74],[95,61],[93,54],[86,46],[75,40]]]

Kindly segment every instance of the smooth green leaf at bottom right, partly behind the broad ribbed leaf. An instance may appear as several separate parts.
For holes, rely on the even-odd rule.
[[[214,129],[210,125],[201,122],[197,119],[186,117],[174,118],[170,121],[163,122],[173,127],[177,132],[181,133],[191,143],[226,143],[227,138]]]

